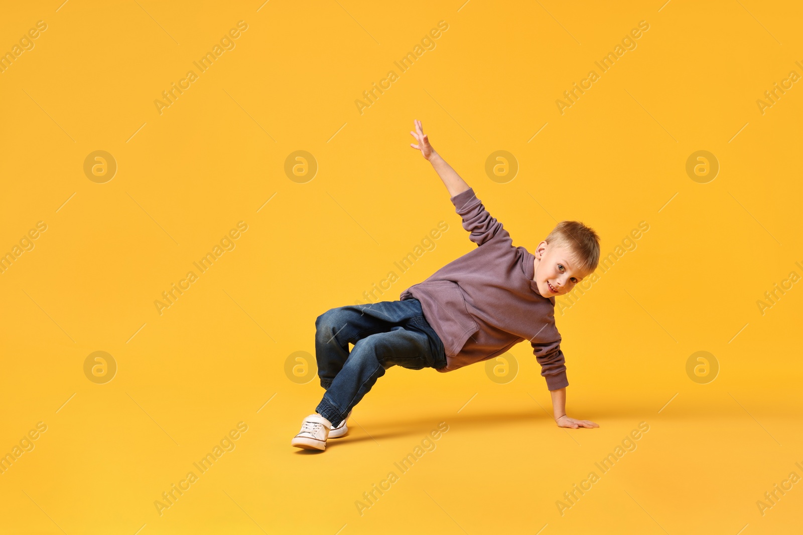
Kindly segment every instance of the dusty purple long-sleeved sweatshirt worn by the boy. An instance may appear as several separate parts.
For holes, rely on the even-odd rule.
[[[441,338],[446,367],[438,371],[492,359],[527,340],[547,388],[569,386],[555,326],[555,298],[541,296],[532,280],[535,255],[513,246],[510,234],[491,217],[473,188],[450,201],[477,248],[400,296],[402,301],[421,302],[424,318]]]

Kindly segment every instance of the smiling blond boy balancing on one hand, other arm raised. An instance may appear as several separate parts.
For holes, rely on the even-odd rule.
[[[597,233],[579,221],[561,221],[535,255],[514,247],[474,190],[434,151],[421,121],[414,124],[410,134],[418,144],[410,147],[438,172],[477,248],[402,292],[399,301],[340,306],[318,316],[315,351],[326,392],[291,445],[324,450],[328,439],[344,436],[352,408],[393,365],[454,371],[524,340],[541,365],[556,424],[598,428],[566,415],[569,381],[554,315],[555,297],[597,269]]]

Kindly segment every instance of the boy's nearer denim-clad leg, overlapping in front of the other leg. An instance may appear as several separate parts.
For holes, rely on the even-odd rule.
[[[332,380],[316,412],[337,425],[373,387],[385,369],[398,365],[412,370],[445,365],[440,340],[427,332],[422,317],[387,332],[357,340],[340,373]]]

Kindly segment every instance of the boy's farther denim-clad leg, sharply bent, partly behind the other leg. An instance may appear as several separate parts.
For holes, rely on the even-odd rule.
[[[349,342],[357,344],[361,338],[386,332],[420,316],[418,299],[340,306],[320,314],[315,322],[320,386],[328,389],[343,368],[349,358]]]

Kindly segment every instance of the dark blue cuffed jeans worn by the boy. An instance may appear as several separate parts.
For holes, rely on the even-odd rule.
[[[316,412],[333,426],[373,387],[385,369],[446,366],[438,334],[426,322],[418,299],[340,306],[315,322],[320,386],[326,389]],[[349,342],[354,347],[349,354]]]

